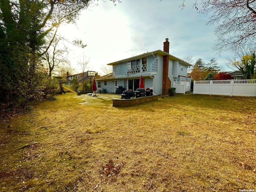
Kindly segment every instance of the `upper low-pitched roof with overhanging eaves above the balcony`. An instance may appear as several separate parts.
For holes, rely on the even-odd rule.
[[[156,51],[152,51],[152,52],[147,52],[147,53],[144,53],[144,54],[140,54],[140,55],[136,55],[136,56],[133,56],[133,57],[130,57],[130,58],[126,58],[126,59],[122,59],[122,60],[119,60],[119,61],[115,61],[115,62],[112,62],[112,63],[109,63],[107,65],[116,65],[116,64],[119,64],[120,62],[126,62],[126,61],[130,61],[130,60],[134,60],[134,59],[138,59],[138,58],[142,58],[142,57],[146,57],[146,56],[150,56],[152,54],[160,54],[162,56],[165,56],[165,55],[168,55],[170,59],[172,60],[177,60],[179,61],[181,64],[185,65],[185,66],[192,66],[192,64],[189,64],[173,55],[170,55],[162,50],[156,50]]]

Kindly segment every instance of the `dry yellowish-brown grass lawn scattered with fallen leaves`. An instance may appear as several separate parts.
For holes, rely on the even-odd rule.
[[[255,97],[114,108],[62,94],[32,108],[0,123],[1,192],[256,191]]]

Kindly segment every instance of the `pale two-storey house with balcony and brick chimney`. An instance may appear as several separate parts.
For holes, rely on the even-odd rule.
[[[186,82],[190,89],[187,68],[192,65],[169,54],[168,38],[164,51],[147,52],[108,65],[112,66],[113,73],[96,79],[98,90],[106,89],[107,93],[115,93],[121,86],[125,90],[136,90],[141,75],[145,88],[153,88],[154,94],[165,95],[174,82]]]

